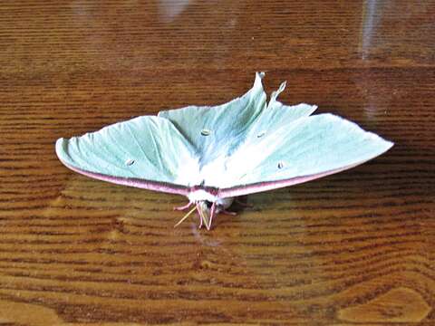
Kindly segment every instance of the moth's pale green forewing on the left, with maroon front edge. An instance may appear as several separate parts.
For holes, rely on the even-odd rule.
[[[68,168],[131,187],[187,195],[182,174],[198,173],[195,151],[169,120],[143,116],[72,139],[58,139]]]

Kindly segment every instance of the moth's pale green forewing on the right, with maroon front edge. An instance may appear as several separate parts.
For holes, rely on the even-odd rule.
[[[393,145],[333,114],[273,125],[227,158],[220,197],[236,197],[324,177],[381,155]]]

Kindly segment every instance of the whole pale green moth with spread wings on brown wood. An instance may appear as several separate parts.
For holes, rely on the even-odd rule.
[[[235,197],[300,184],[375,158],[393,145],[315,105],[266,101],[263,72],[225,104],[162,110],[81,137],[57,139],[63,164],[82,175],[189,198],[209,230]]]

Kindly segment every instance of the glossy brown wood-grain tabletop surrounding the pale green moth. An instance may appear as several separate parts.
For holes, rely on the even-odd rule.
[[[434,1],[0,3],[0,323],[435,324]],[[174,229],[185,198],[73,173],[54,141],[218,104],[266,72],[396,143]]]

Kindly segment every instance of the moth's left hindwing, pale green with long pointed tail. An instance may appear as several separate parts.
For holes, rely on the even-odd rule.
[[[264,73],[257,72],[254,86],[243,96],[214,107],[189,106],[160,111],[198,151],[200,165],[233,152],[246,136],[247,129],[266,108]]]

